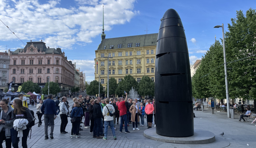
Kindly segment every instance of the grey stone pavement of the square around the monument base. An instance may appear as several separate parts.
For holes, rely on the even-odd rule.
[[[68,99],[69,103],[72,103],[71,99]],[[29,109],[36,112],[35,107],[29,106]],[[70,118],[69,123],[66,127],[67,134],[60,134],[60,117],[57,117],[55,120],[54,127],[54,139],[44,140],[44,122],[42,126],[38,127],[34,125],[32,127],[31,139],[28,138],[27,144],[29,148],[153,148],[153,147],[173,147],[173,148],[184,148],[184,147],[215,147],[221,148],[222,141],[226,140],[230,142],[228,147],[237,148],[237,147],[256,147],[256,124],[250,124],[249,122],[240,122],[238,121],[239,115],[235,115],[235,119],[227,118],[226,112],[217,112],[211,114],[211,109],[204,109],[202,111],[194,111],[197,118],[194,118],[194,128],[207,130],[215,134],[216,141],[211,144],[201,144],[201,145],[184,145],[184,144],[172,144],[158,142],[152,139],[144,137],[143,131],[147,129],[147,126],[141,127],[138,125],[139,131],[133,131],[132,125],[128,127],[128,130],[131,133],[119,133],[119,124],[116,125],[116,136],[117,139],[114,140],[112,132],[109,129],[108,139],[97,139],[93,138],[93,134],[89,133],[89,129],[82,127],[83,131],[80,131],[81,138],[70,138],[71,133],[71,123]],[[84,118],[83,118],[84,119]],[[175,120],[175,119],[173,119]],[[38,122],[36,120],[35,122]],[[119,122],[120,123],[120,122]],[[82,124],[81,124],[82,125]],[[145,124],[146,120],[145,120]],[[154,128],[154,124],[152,125]],[[48,133],[51,128],[48,128]],[[104,131],[104,130],[103,130]],[[123,130],[124,131],[124,130]],[[224,132],[224,135],[219,135]],[[30,135],[30,133],[29,133]],[[248,144],[248,145],[247,145]],[[3,143],[5,147],[5,143]],[[21,146],[21,140],[19,142],[19,147]]]

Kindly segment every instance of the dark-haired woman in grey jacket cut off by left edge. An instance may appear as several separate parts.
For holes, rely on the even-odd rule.
[[[12,147],[11,129],[13,128],[13,108],[8,105],[8,100],[2,99],[0,102],[0,147],[5,140],[6,148]]]

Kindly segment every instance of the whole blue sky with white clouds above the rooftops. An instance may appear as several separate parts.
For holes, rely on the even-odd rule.
[[[0,0],[0,19],[25,44],[40,41],[51,48],[60,47],[68,60],[76,62],[94,80],[95,50],[101,42],[102,5],[106,38],[158,33],[160,19],[170,8],[180,15],[187,39],[190,63],[205,54],[222,29],[243,13],[256,9],[255,0]],[[0,51],[24,48],[23,42],[0,22]]]

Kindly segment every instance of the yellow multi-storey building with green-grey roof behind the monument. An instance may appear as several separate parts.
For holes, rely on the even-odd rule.
[[[158,33],[102,38],[98,49],[95,50],[94,60],[95,80],[101,82],[103,90],[107,87],[107,66],[109,79],[114,77],[117,83],[126,75],[133,76],[137,82],[140,82],[144,75],[154,81],[157,35]],[[106,57],[111,57],[109,63]]]

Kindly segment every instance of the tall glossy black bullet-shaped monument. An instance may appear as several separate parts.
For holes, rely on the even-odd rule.
[[[169,9],[161,19],[156,46],[156,133],[194,135],[193,101],[187,41],[179,14]]]

